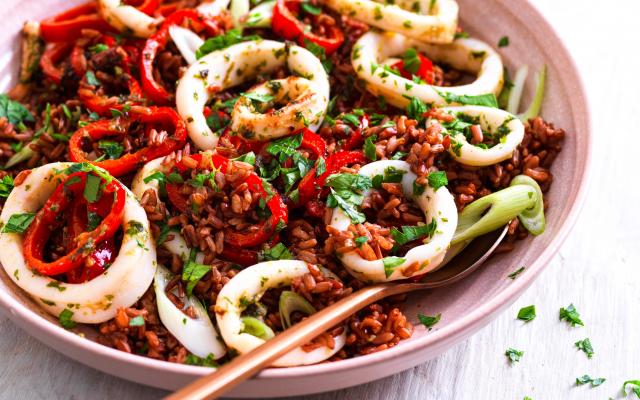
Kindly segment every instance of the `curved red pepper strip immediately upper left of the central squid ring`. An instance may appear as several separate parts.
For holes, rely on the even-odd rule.
[[[145,94],[156,104],[170,105],[175,96],[156,81],[153,73],[156,56],[167,45],[169,27],[182,25],[186,20],[198,30],[206,30],[209,36],[217,36],[220,33],[220,28],[212,19],[201,16],[196,10],[184,9],[169,15],[158,31],[147,39],[142,51],[143,56],[140,58],[140,80]]]

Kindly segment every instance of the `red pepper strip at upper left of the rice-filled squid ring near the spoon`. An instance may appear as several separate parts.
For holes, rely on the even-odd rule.
[[[351,164],[366,163],[364,154],[360,151],[339,151],[330,155],[326,160],[327,170],[324,174],[316,176],[316,169],[309,171],[298,184],[298,205],[307,204],[317,200],[322,192],[327,177],[340,171],[340,168]]]

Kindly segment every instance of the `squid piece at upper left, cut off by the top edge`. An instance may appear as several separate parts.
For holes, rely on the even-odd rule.
[[[148,38],[157,28],[158,20],[135,7],[122,4],[122,0],[99,0],[98,11],[109,25],[120,32],[132,32],[135,36]]]

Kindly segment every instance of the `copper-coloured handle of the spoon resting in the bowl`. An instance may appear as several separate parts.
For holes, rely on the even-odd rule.
[[[324,332],[338,325],[349,315],[374,301],[407,291],[406,289],[402,290],[399,286],[404,285],[378,284],[360,289],[269,339],[269,341],[256,349],[234,358],[215,372],[199,378],[169,395],[166,399],[200,400],[218,398],[226,391],[271,365],[280,356],[295,347],[309,342],[318,335],[318,332]]]

